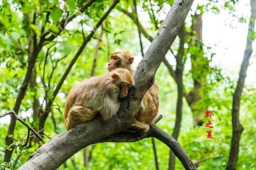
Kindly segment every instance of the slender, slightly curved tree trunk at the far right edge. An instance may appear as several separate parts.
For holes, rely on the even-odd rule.
[[[252,55],[252,33],[254,33],[255,27],[255,18],[256,18],[256,0],[251,0],[251,17],[248,27],[247,34],[247,42],[244,50],[244,59],[242,61],[241,70],[239,73],[239,78],[236,86],[236,91],[233,95],[233,105],[232,105],[232,143],[231,150],[229,154],[228,164],[226,170],[235,170],[236,162],[238,160],[238,152],[239,152],[239,142],[240,136],[243,131],[243,127],[239,121],[239,107],[240,107],[240,99],[242,95],[242,89],[244,87],[244,81],[246,78],[246,72],[249,65],[249,60]]]

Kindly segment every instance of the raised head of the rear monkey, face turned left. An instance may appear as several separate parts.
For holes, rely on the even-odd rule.
[[[108,63],[108,70],[114,70],[115,68],[131,68],[134,57],[129,51],[116,52],[110,56]]]

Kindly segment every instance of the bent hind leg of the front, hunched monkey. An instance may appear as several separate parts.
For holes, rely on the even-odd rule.
[[[88,109],[83,106],[73,106],[67,114],[67,119],[65,120],[65,127],[67,130],[71,129],[78,123],[83,123],[92,120],[97,115],[97,112]]]

